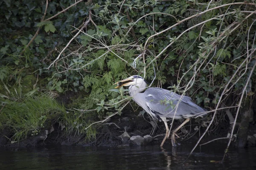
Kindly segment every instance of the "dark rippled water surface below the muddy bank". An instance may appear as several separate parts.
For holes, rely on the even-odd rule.
[[[193,146],[145,147],[41,147],[0,150],[0,170],[256,170],[256,148],[226,146],[198,147],[186,161]]]

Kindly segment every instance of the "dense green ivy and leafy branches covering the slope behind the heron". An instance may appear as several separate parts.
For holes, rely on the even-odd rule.
[[[67,132],[84,132],[87,115],[102,120],[122,113],[128,96],[124,89],[111,90],[113,83],[138,74],[212,110],[207,130],[223,117],[222,108],[236,121],[256,90],[255,5],[254,0],[3,0],[1,98],[18,105],[12,96],[25,101],[46,91],[79,92],[80,102],[69,105],[72,114],[62,112],[60,120],[70,127]],[[27,75],[34,80],[23,93]],[[2,107],[1,116],[11,119],[14,113],[3,111],[14,106],[2,102]],[[234,127],[230,141],[233,133]]]

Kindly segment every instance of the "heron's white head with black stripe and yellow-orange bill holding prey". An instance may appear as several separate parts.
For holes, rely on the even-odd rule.
[[[136,86],[145,86],[147,85],[147,82],[143,79],[143,77],[140,77],[138,75],[128,77],[127,79],[123,79],[119,82],[116,82],[114,85],[117,86],[115,88],[120,88],[122,86],[130,86],[130,85],[136,85]],[[144,87],[143,87],[144,88]]]

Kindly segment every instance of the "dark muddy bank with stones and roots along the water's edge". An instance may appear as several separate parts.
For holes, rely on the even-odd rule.
[[[104,124],[96,125],[97,134],[96,139],[92,141],[85,140],[86,134],[70,134],[66,135],[62,125],[56,123],[55,117],[49,118],[45,125],[46,127],[41,130],[36,136],[29,136],[25,141],[19,143],[11,143],[8,138],[12,136],[12,133],[9,129],[4,129],[0,134],[0,147],[35,147],[35,146],[49,146],[49,145],[78,145],[78,146],[104,146],[104,147],[116,147],[116,146],[125,146],[131,145],[130,140],[124,141],[121,138],[121,135],[124,132],[127,132],[130,136],[145,136],[151,134],[154,137],[153,142],[150,144],[160,144],[165,134],[165,127],[163,122],[158,122],[153,133],[153,125],[150,123],[150,119],[143,116],[136,116],[135,114],[124,114],[122,116],[115,116],[111,118],[110,121]],[[55,122],[55,123],[54,123]],[[192,119],[191,126],[188,124],[186,129],[182,129],[179,132],[180,138],[176,138],[177,142],[182,143],[196,143],[199,139],[199,132],[195,133],[195,119]],[[172,128],[177,127],[180,122],[174,122]],[[207,134],[201,143],[207,142],[209,140],[223,137],[228,133],[229,123],[222,123],[215,127],[215,130]],[[250,123],[249,128],[250,133],[254,133],[256,130],[256,125]],[[205,130],[205,127],[200,128],[202,133]],[[195,133],[195,134],[193,134]],[[162,135],[161,135],[162,134]],[[227,140],[217,140],[217,143],[224,144]],[[167,139],[165,144],[171,144],[170,139]],[[250,146],[254,146],[255,143],[249,142]]]

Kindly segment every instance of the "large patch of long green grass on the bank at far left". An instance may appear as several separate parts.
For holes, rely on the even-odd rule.
[[[26,97],[20,101],[0,99],[0,128],[9,127],[13,132],[12,142],[19,142],[29,135],[36,135],[43,127],[47,116],[65,112],[63,105],[48,96]]]

